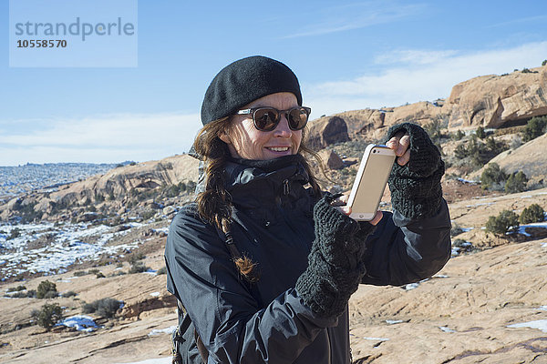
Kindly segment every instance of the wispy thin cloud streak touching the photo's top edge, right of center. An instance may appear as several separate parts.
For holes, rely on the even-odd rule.
[[[392,23],[416,15],[423,8],[424,5],[401,5],[387,1],[334,6],[321,9],[321,14],[309,15],[308,17],[317,19],[315,24],[307,25],[300,31],[296,30],[293,35],[285,35],[282,39],[326,35]]]

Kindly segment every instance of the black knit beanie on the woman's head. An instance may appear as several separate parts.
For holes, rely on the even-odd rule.
[[[265,56],[250,56],[222,68],[205,92],[201,123],[230,116],[254,100],[290,92],[302,106],[298,79],[283,63]]]

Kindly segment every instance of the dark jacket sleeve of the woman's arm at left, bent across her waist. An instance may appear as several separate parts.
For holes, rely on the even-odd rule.
[[[214,362],[292,363],[322,329],[337,324],[316,317],[294,289],[260,308],[216,230],[188,209],[170,225],[165,260],[168,289]]]

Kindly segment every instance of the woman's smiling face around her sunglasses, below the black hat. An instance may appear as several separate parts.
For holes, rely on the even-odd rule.
[[[294,94],[280,92],[254,100],[242,109],[258,106],[287,110],[298,106],[298,102]],[[234,115],[230,126],[219,137],[228,145],[232,157],[265,160],[296,154],[302,141],[302,130],[291,130],[285,115],[281,116],[279,124],[272,131],[261,131],[254,127],[251,115]]]

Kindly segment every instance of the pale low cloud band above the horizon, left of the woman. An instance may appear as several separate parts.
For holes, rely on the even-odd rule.
[[[197,114],[110,115],[35,120],[0,135],[0,166],[46,162],[150,160],[187,152],[201,126]]]

